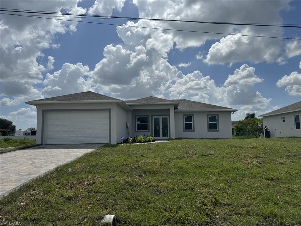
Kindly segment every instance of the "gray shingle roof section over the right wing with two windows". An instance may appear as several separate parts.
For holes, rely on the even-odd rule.
[[[196,102],[192,100],[172,100],[172,101],[178,101],[180,102],[178,106],[179,111],[186,111],[186,110],[236,110],[234,108],[226,108],[218,105],[212,105],[212,104],[205,104],[201,102]],[[177,111],[177,110],[176,110]]]

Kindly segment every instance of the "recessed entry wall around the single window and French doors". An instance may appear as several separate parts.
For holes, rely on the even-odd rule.
[[[136,127],[136,119],[135,116],[137,115],[147,115],[148,116],[148,130],[149,131],[142,131],[142,132],[135,132],[135,127]],[[139,135],[142,135],[143,137],[149,136],[149,135],[153,135],[152,131],[153,131],[153,123],[152,123],[152,115],[157,115],[157,116],[170,116],[170,109],[133,109],[132,111],[132,136],[136,137]],[[170,118],[169,118],[170,121]],[[171,123],[169,122],[169,125]],[[170,133],[170,132],[169,132]]]

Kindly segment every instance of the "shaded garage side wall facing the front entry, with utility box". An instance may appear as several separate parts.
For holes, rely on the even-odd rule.
[[[126,122],[129,121],[128,118],[128,111],[117,105],[117,117],[116,117],[116,142],[120,143],[121,142],[121,137],[127,138],[128,137],[128,132],[126,130]]]

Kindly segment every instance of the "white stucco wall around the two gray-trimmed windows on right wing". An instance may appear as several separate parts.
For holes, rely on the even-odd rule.
[[[219,115],[219,131],[209,131],[207,114]],[[183,115],[194,115],[194,132],[183,131]],[[231,112],[175,112],[176,138],[232,138]]]

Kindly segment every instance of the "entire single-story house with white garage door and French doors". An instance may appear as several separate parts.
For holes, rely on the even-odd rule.
[[[37,112],[37,143],[119,143],[121,137],[152,135],[232,138],[237,111],[190,100],[153,96],[123,101],[91,91],[26,102]]]

